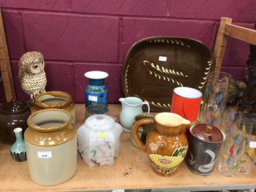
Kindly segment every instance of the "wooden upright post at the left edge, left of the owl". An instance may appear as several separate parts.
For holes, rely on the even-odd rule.
[[[10,65],[8,47],[6,44],[6,38],[4,33],[3,18],[0,8],[0,69],[2,76],[0,77],[0,83],[4,84],[4,92],[6,101],[16,99],[15,88],[12,78],[12,68]]]

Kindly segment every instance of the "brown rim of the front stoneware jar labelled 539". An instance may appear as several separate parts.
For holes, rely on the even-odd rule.
[[[73,116],[63,109],[42,109],[28,117],[28,127],[40,132],[65,129],[72,123]]]

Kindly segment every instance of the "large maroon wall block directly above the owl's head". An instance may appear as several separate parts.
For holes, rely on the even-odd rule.
[[[118,19],[25,13],[23,23],[27,51],[46,60],[117,61]]]

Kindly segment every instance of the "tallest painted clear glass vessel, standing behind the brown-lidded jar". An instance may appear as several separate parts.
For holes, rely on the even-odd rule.
[[[198,120],[202,124],[218,125],[225,111],[231,75],[211,72],[203,96]]]

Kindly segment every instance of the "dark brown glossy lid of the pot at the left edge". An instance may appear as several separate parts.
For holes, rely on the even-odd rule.
[[[22,113],[24,111],[28,111],[28,109],[28,104],[16,99],[11,99],[10,102],[5,102],[0,106],[1,113]]]

